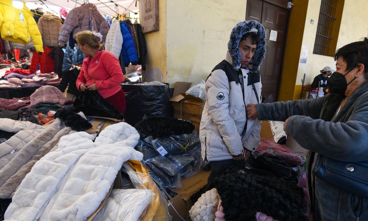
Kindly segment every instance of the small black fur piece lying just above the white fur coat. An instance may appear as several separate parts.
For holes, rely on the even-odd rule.
[[[65,126],[71,127],[71,129],[76,131],[85,131],[91,128],[92,124],[78,113],[75,113],[75,111],[77,109],[61,109],[55,113],[54,117],[60,118],[65,123]]]

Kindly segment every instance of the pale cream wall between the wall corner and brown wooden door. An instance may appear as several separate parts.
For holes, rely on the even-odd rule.
[[[167,0],[167,82],[206,79],[226,56],[230,32],[247,1]]]

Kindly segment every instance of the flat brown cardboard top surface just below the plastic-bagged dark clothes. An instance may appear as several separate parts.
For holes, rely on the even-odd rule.
[[[211,171],[199,171],[197,175],[190,176],[188,178],[181,180],[180,189],[171,189],[175,193],[179,194],[184,200],[189,200],[189,198],[197,193],[202,187],[207,185],[207,179]]]

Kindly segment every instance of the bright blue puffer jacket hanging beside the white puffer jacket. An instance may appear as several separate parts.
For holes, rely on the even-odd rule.
[[[130,30],[128,25],[124,21],[120,21],[121,34],[123,35],[123,48],[121,52],[123,53],[124,63],[137,65],[138,55],[135,49],[134,41],[130,35]]]

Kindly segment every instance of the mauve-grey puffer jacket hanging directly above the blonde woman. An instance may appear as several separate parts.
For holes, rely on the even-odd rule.
[[[105,43],[109,25],[92,3],[73,8],[69,12],[60,32],[59,43],[66,44],[69,40],[70,32],[73,32],[73,38],[76,39],[75,36],[78,32],[86,30],[100,32],[102,34],[102,43]]]

